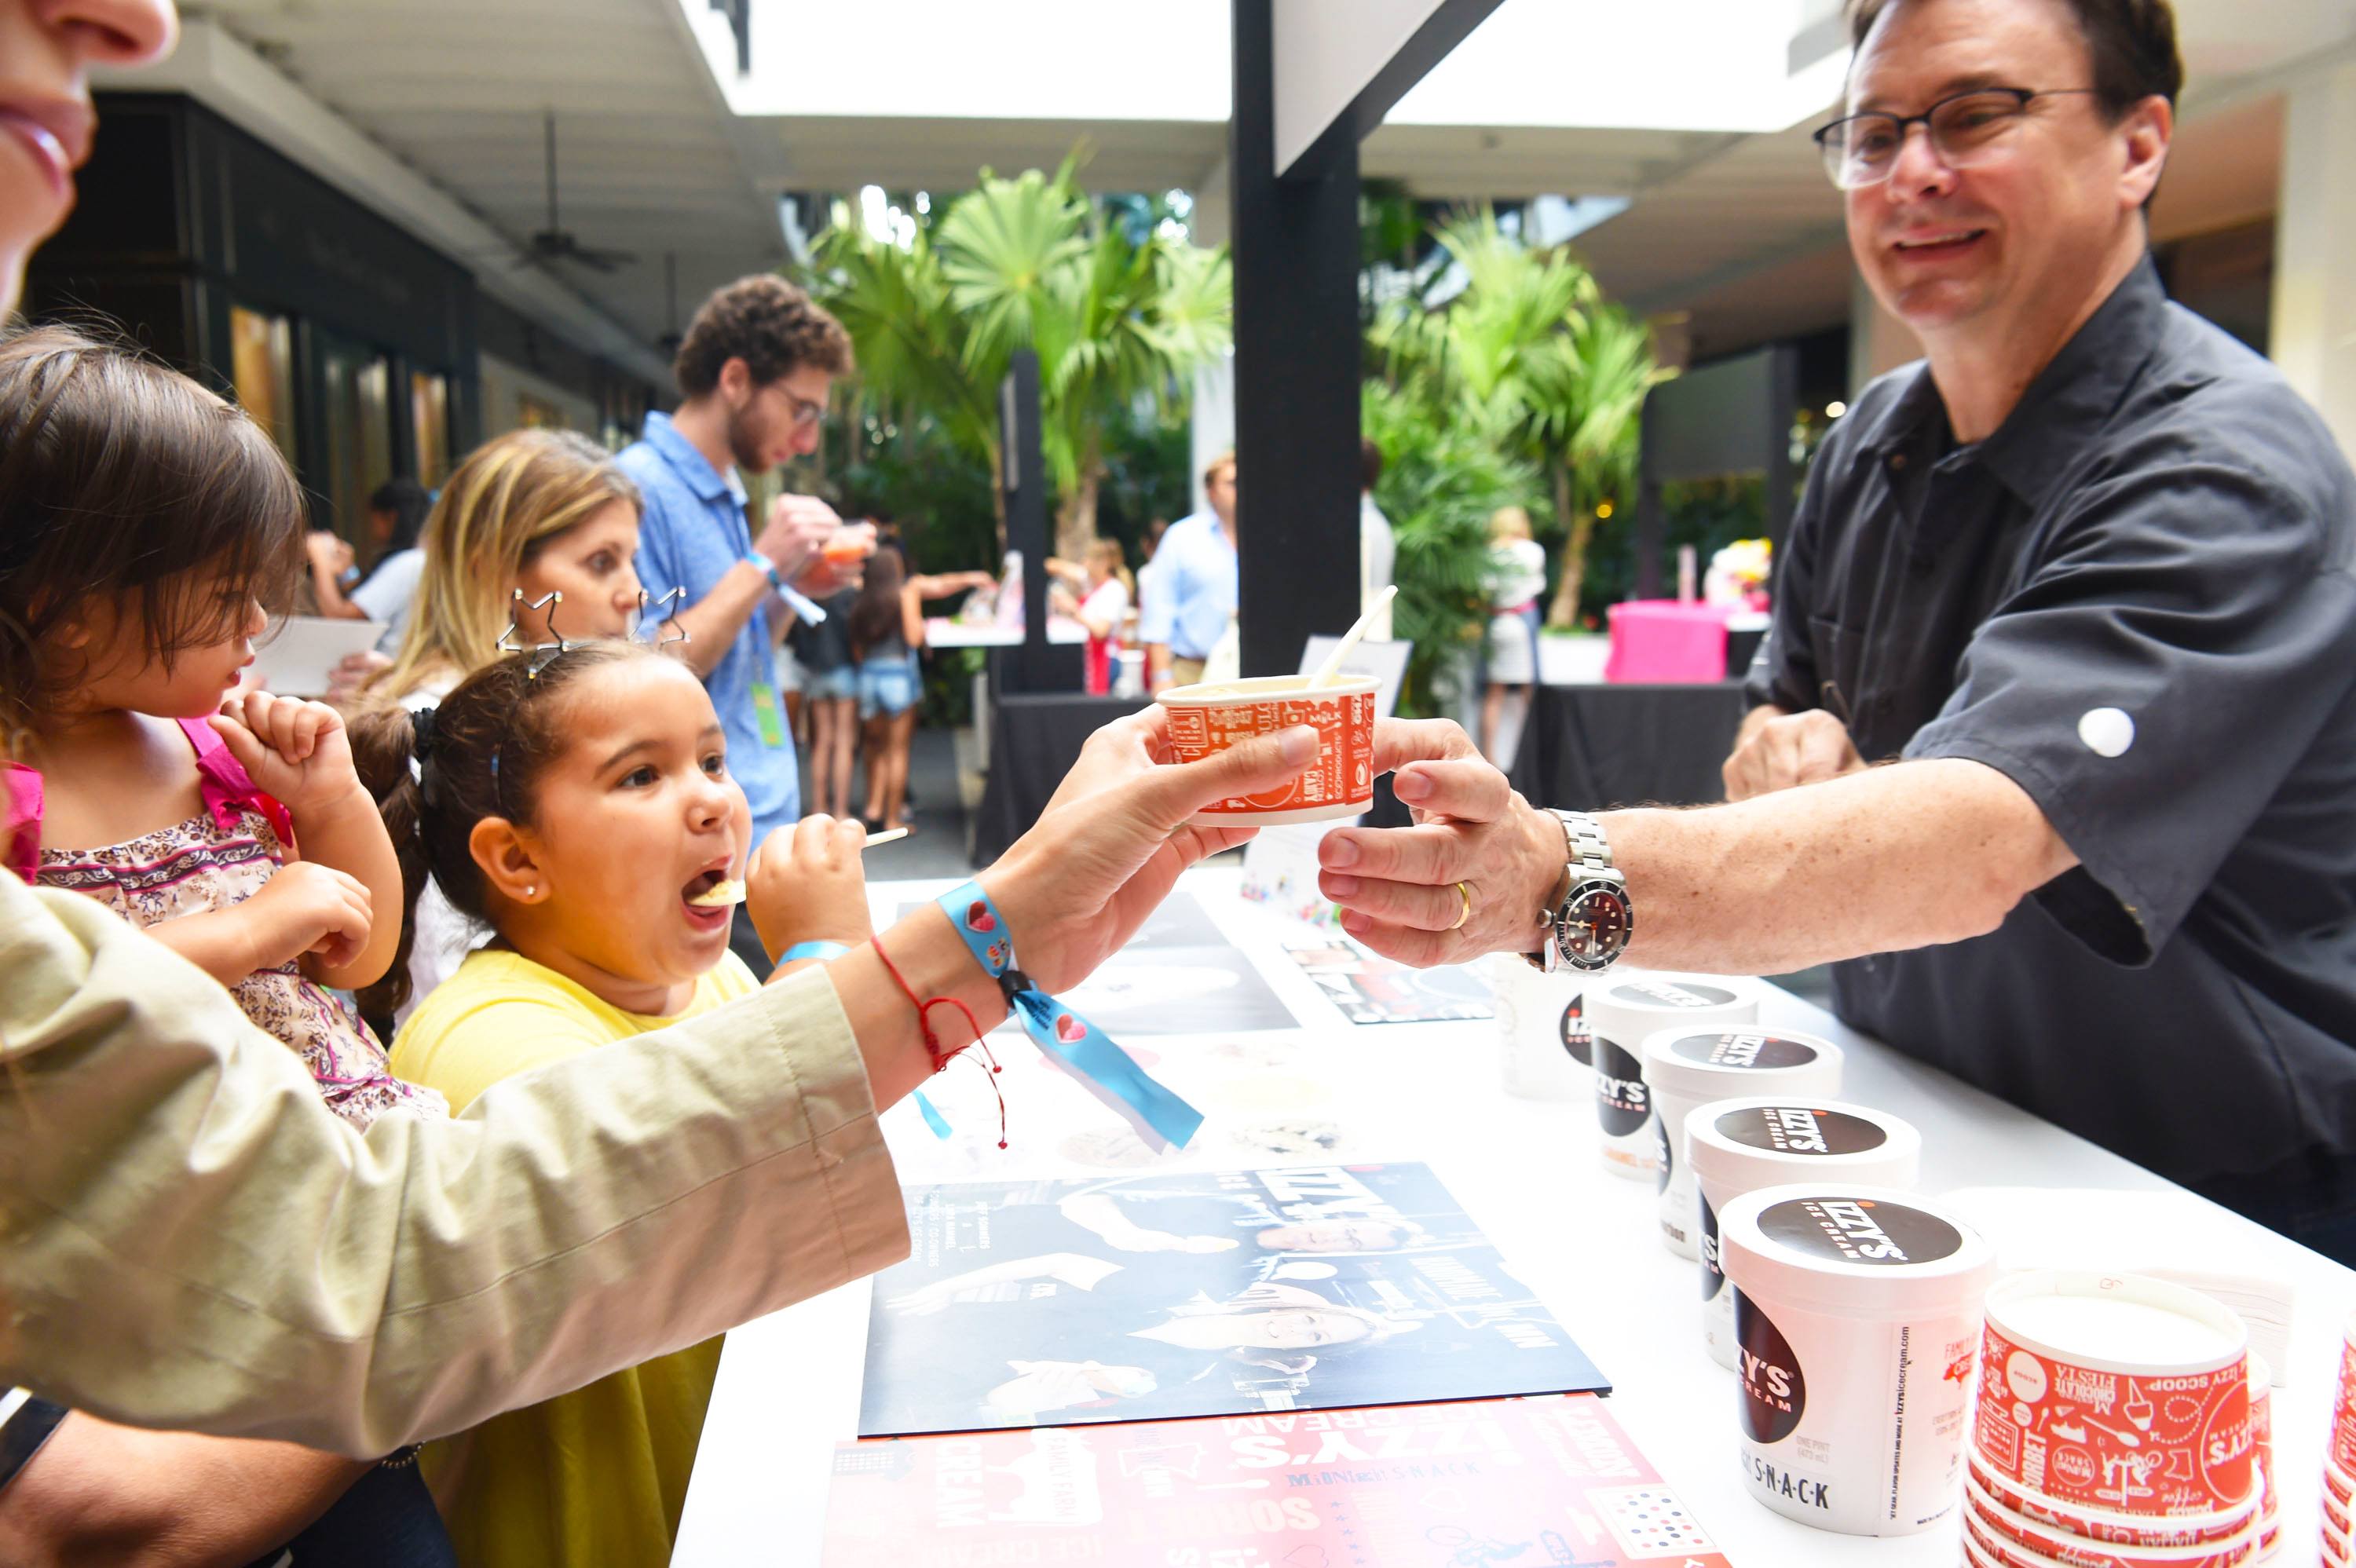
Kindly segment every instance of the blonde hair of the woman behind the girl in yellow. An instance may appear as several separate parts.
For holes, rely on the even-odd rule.
[[[516,572],[608,501],[638,506],[638,487],[587,436],[509,431],[476,447],[434,501],[408,631],[391,669],[363,687],[365,699],[398,702],[429,676],[490,664]]]

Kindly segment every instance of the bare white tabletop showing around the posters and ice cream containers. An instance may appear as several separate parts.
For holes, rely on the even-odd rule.
[[[1237,871],[1190,871],[1183,885],[1237,946],[1253,954],[1268,984],[1305,1026],[1253,1036],[1131,1041],[1154,1052],[1154,1071],[1206,1114],[1204,1130],[1178,1156],[1180,1163],[1253,1163],[1220,1158],[1220,1125],[1239,1116],[1265,1121],[1270,1111],[1341,1123],[1350,1135],[1343,1158],[1428,1163],[1496,1241],[1508,1267],[1553,1307],[1614,1380],[1614,1420],[1652,1457],[1732,1563],[1951,1568],[1960,1561],[1960,1523],[1953,1516],[1911,1537],[1828,1535],[1772,1514],[1743,1493],[1734,1446],[1734,1375],[1701,1349],[1694,1264],[1661,1245],[1652,1182],[1614,1177],[1597,1163],[1595,1114],[1588,1102],[1508,1097],[1498,1085],[1496,1026],[1489,1022],[1350,1024],[1286,963],[1279,937],[1298,935],[1301,928],[1237,897]],[[881,921],[902,902],[945,888],[947,883],[884,883],[869,892]],[[1897,1111],[1922,1130],[1925,1191],[1986,1184],[2168,1187],[2139,1165],[1840,1026],[1795,996],[1772,991],[1765,1019],[1840,1041],[1847,1050],[1842,1099]],[[1190,1083],[1190,1057],[1204,1062],[1227,1038],[1284,1052],[1284,1067],[1260,1078],[1268,1097],[1235,1102],[1232,1076],[1223,1085],[1206,1081],[1209,1090]],[[1001,1052],[1013,1144],[1008,1151],[999,1151],[997,1140],[980,1130],[980,1107],[987,1104],[980,1071],[952,1069],[935,1078],[945,1095],[942,1109],[959,1125],[952,1144],[926,1132],[914,1104],[886,1114],[902,1180],[919,1187],[1105,1175],[1098,1165],[1063,1158],[1058,1147],[1074,1130],[1117,1123],[1060,1076],[1032,1067],[1027,1057],[1034,1055],[1020,1038]],[[980,1090],[980,1102],[957,1088],[966,1076]],[[1235,1102],[1232,1109],[1220,1097]],[[1277,1099],[1284,1104],[1275,1104]],[[994,1109],[987,1118],[994,1128]],[[2274,1561],[2311,1563],[2340,1323],[2356,1304],[2356,1274],[2271,1231],[2226,1220],[2262,1238],[2269,1267],[2297,1290],[2290,1363],[2278,1373],[2283,1387],[2274,1394],[2283,1497],[2283,1542]],[[2087,1262],[2099,1267],[2102,1260]],[[820,1563],[832,1450],[836,1441],[858,1436],[867,1302],[869,1283],[855,1281],[728,1335],[674,1563]]]

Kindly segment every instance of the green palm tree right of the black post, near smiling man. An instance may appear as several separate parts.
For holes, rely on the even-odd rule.
[[[1548,624],[1569,626],[1595,511],[1635,485],[1644,393],[1670,372],[1654,363],[1652,330],[1604,301],[1567,247],[1524,245],[1487,205],[1449,219],[1437,238],[1463,290],[1437,306],[1399,301],[1376,323],[1374,344],[1402,388],[1546,473],[1553,520],[1567,530]]]

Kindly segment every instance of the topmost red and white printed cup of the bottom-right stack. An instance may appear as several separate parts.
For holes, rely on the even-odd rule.
[[[1979,1457],[2054,1502],[2212,1514],[2250,1497],[2250,1330],[2198,1290],[2014,1276],[1988,1293],[1979,1387]]]

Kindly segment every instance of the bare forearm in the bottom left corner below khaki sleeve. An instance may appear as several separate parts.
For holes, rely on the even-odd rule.
[[[297,1443],[141,1431],[73,1410],[0,1490],[0,1563],[252,1563],[368,1469]]]

